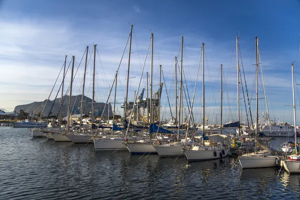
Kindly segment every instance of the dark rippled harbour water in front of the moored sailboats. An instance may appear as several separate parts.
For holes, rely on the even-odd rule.
[[[93,144],[31,139],[29,128],[0,127],[0,199],[300,198],[300,175],[277,177],[278,168],[241,170],[236,157],[174,159],[95,152]]]

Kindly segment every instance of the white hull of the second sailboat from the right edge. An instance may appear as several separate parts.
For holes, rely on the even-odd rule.
[[[241,168],[262,168],[278,166],[279,159],[270,153],[250,153],[239,156]]]

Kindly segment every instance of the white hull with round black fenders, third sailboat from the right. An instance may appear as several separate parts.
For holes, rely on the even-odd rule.
[[[215,152],[215,153],[214,153]],[[188,161],[212,160],[226,157],[229,149],[215,149],[215,150],[184,150]]]

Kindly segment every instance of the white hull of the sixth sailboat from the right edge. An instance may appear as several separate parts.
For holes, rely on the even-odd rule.
[[[123,144],[124,138],[119,139],[93,139],[95,150],[127,150]]]

